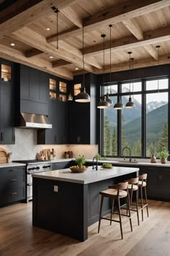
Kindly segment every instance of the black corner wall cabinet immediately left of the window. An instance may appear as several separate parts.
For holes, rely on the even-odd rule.
[[[82,82],[82,76],[74,77],[73,82]],[[95,74],[86,74],[86,92],[91,97],[90,103],[69,102],[69,143],[96,144],[96,84]]]

